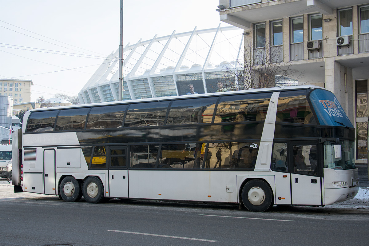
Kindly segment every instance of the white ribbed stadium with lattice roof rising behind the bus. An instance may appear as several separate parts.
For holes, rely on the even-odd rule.
[[[180,96],[219,90],[243,64],[243,30],[210,28],[128,43],[123,48],[123,100]],[[80,103],[118,100],[119,49],[112,52],[78,93]],[[215,64],[215,65],[214,65]]]

